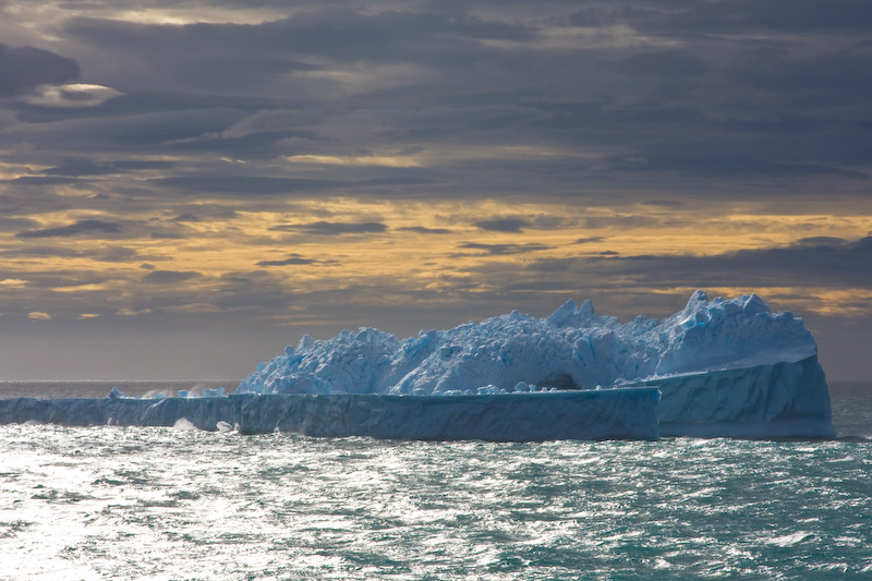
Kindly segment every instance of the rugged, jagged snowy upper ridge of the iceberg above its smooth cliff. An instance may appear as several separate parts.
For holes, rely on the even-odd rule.
[[[399,340],[373,328],[313,341],[262,363],[239,386],[255,394],[438,395],[519,383],[611,386],[682,373],[799,361],[816,354],[802,320],[773,314],[755,294],[687,306],[657,322],[620,324],[590,301],[567,301],[545,318],[517,311]]]

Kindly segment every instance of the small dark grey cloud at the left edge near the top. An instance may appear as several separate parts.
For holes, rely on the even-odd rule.
[[[78,76],[78,64],[34,47],[0,44],[0,98],[19,97],[43,84],[59,84]]]

